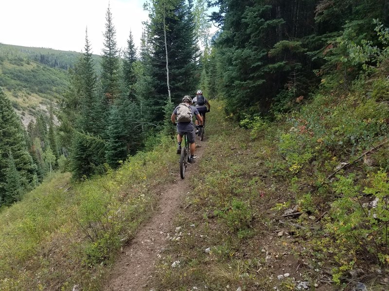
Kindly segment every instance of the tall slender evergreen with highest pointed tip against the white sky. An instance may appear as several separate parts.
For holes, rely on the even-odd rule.
[[[119,50],[116,45],[116,29],[112,22],[112,13],[108,5],[106,11],[106,31],[104,32],[104,49],[101,60],[101,82],[106,98],[112,100],[119,94]]]

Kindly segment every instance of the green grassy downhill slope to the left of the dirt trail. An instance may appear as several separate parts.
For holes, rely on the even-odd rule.
[[[0,213],[0,290],[99,290],[120,246],[177,178],[176,142],[129,158],[105,176],[54,174]],[[161,158],[163,157],[163,158]]]

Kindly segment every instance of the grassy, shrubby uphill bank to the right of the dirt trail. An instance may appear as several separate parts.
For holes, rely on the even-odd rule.
[[[388,104],[363,93],[318,95],[276,122],[246,120],[248,129],[212,104],[194,190],[149,287],[331,291],[354,290],[360,282],[388,290],[389,183],[382,170],[389,168],[388,144],[339,170],[340,162],[355,161],[388,134]],[[359,141],[347,130],[355,136],[360,130]],[[352,187],[357,190],[348,192]],[[374,210],[368,205],[376,197]]]

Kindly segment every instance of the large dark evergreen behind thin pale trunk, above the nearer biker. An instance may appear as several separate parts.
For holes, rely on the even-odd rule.
[[[184,0],[151,1],[148,44],[150,76],[155,94],[149,103],[153,106],[151,112],[157,122],[164,119],[163,108],[169,101],[166,56],[169,62],[169,83],[173,103],[177,104],[182,96],[195,91],[198,81],[196,75],[198,47],[192,12],[193,1],[189,1],[189,5]]]

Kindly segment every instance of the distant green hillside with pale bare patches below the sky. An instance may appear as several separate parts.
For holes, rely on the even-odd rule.
[[[0,44],[0,86],[13,102],[24,126],[39,113],[48,114],[69,85],[67,70],[81,52]],[[94,55],[96,65],[99,56]]]

